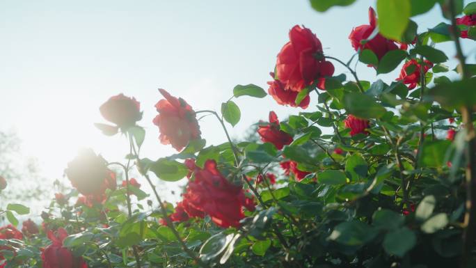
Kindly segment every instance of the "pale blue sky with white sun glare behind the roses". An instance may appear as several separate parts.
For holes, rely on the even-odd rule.
[[[43,174],[60,178],[79,146],[90,146],[110,161],[126,155],[120,136],[104,137],[93,127],[104,122],[100,104],[124,93],[136,97],[144,111],[143,156],[170,155],[175,151],[159,143],[151,123],[157,88],[183,97],[196,110],[217,111],[237,84],[267,89],[276,54],[295,24],[316,33],[326,54],[347,61],[354,54],[349,33],[368,23],[370,4],[374,1],[358,0],[317,13],[307,0],[0,0],[0,129],[17,129],[24,151],[38,157]],[[436,7],[415,17],[420,31],[443,21],[440,13]],[[473,49],[474,61],[474,42],[463,45]],[[437,47],[449,55],[454,51],[451,43]],[[336,74],[345,72],[335,66]],[[374,70],[360,64],[358,74],[372,79]],[[379,78],[395,77],[397,71]],[[311,99],[315,103],[317,97]],[[267,119],[270,110],[280,118],[300,111],[280,107],[269,96],[241,97],[237,104],[242,120],[230,127],[234,136]],[[225,141],[212,118],[200,125],[209,143]]]

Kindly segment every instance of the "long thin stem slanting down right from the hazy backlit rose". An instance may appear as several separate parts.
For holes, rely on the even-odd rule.
[[[140,158],[138,156],[138,153],[136,151],[136,148],[134,147],[134,143],[132,142],[132,139],[129,140],[129,143],[131,144],[131,147],[132,147],[132,150],[134,151],[134,156],[136,157],[136,161],[139,161]],[[170,228],[170,230],[172,230],[173,232],[173,235],[175,236],[175,238],[177,239],[177,241],[180,243],[180,246],[182,246],[182,249],[185,251],[185,253],[187,253],[187,255],[190,256],[190,258],[192,258],[193,260],[195,260],[197,262],[198,265],[200,265],[200,267],[203,267],[203,268],[210,268],[209,265],[207,265],[205,262],[203,262],[200,258],[198,258],[198,256],[193,252],[191,251],[191,249],[189,249],[189,247],[187,246],[187,244],[185,244],[185,242],[182,240],[182,237],[180,237],[180,234],[177,232],[177,229],[175,229],[175,226],[173,224],[173,221],[170,220],[170,218],[168,217],[168,214],[167,214],[167,210],[166,210],[166,206],[164,205],[164,203],[162,202],[160,196],[159,196],[159,193],[157,193],[157,189],[155,187],[155,185],[152,183],[152,180],[150,180],[150,177],[147,173],[143,174],[143,176],[145,177],[145,179],[147,180],[147,182],[149,183],[150,185],[150,188],[152,188],[152,191],[154,192],[154,196],[155,198],[157,199],[157,202],[159,202],[159,205],[160,205],[160,211],[162,213],[162,216],[164,217],[164,220],[166,221],[167,223],[167,226]],[[129,184],[129,183],[128,183]]]

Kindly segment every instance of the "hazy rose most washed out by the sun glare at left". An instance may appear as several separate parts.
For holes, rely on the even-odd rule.
[[[106,164],[104,158],[87,149],[68,163],[65,173],[79,193],[95,200],[105,199],[106,189],[116,189],[116,174]]]

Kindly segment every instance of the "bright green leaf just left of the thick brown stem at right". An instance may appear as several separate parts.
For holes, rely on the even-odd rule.
[[[422,167],[440,168],[445,165],[445,156],[451,141],[425,141],[420,153]]]

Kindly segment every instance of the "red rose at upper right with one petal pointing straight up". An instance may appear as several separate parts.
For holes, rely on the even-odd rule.
[[[380,60],[383,55],[387,54],[387,52],[390,52],[391,50],[399,48],[406,49],[408,47],[406,44],[402,44],[400,47],[398,47],[395,41],[384,38],[380,33],[377,33],[377,35],[374,36],[372,40],[368,40],[367,42],[363,43],[364,40],[367,40],[367,38],[370,37],[376,28],[376,15],[373,8],[369,8],[369,22],[370,25],[364,24],[352,29],[349,35],[352,47],[354,47],[356,51],[370,49]]]

